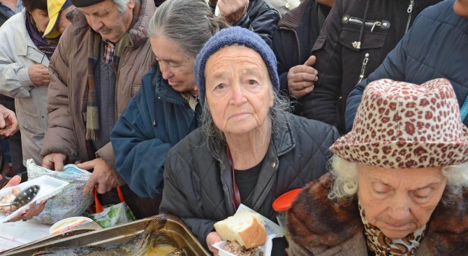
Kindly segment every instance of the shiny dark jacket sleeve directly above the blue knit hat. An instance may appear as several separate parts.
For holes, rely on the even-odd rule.
[[[254,31],[272,47],[273,34],[276,31],[279,22],[279,12],[262,1],[251,1],[253,4],[247,10],[247,13],[234,24]]]

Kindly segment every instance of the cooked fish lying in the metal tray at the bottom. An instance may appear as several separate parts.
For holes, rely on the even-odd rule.
[[[131,241],[122,245],[106,247],[99,246],[71,246],[50,248],[38,251],[36,255],[57,256],[189,256],[180,248],[177,242],[161,230],[166,225],[166,217],[157,217],[149,223],[145,231],[135,236]]]

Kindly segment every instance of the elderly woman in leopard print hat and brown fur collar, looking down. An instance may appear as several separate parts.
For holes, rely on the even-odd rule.
[[[332,171],[286,217],[289,255],[467,255],[468,128],[448,80],[377,80]]]

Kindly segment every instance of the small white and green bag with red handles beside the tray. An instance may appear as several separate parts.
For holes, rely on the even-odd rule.
[[[96,189],[94,189],[96,213],[89,214],[89,218],[92,218],[92,220],[96,221],[101,227],[114,227],[115,225],[130,223],[136,220],[135,216],[133,216],[133,212],[125,202],[120,186],[117,186],[117,193],[119,194],[120,203],[103,207],[99,202]]]

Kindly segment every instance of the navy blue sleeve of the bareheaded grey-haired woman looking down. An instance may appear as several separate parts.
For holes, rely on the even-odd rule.
[[[131,190],[139,197],[154,198],[163,193],[164,161],[171,145],[156,138],[151,117],[147,111],[140,110],[138,101],[142,91],[129,101],[110,140],[115,167]]]

